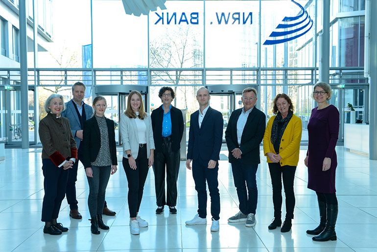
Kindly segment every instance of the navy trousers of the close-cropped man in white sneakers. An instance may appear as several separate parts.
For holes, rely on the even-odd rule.
[[[211,197],[211,215],[214,220],[220,219],[220,193],[218,190],[218,162],[213,169],[208,168],[210,160],[192,160],[192,177],[195,182],[195,190],[198,192],[198,214],[200,218],[207,216],[207,186]]]

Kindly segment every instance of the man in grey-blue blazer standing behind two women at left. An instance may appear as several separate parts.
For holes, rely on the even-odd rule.
[[[76,82],[72,86],[73,98],[66,102],[66,110],[62,112],[62,116],[67,117],[70,120],[72,135],[76,141],[78,149],[78,159],[82,162],[82,146],[80,145],[82,141],[82,133],[84,127],[84,121],[90,119],[93,115],[93,108],[88,104],[85,104],[83,99],[85,97],[86,87],[82,82]],[[78,162],[75,162],[70,169],[66,197],[67,202],[70,205],[70,216],[74,219],[81,219],[82,216],[78,211],[78,202],[76,199],[76,181],[77,181],[77,168]],[[104,214],[115,215],[114,211],[109,210],[106,205],[104,205]]]

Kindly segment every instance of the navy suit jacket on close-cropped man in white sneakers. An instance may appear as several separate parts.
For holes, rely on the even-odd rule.
[[[222,114],[209,107],[199,128],[199,110],[195,111],[190,117],[187,159],[219,160],[222,138]]]

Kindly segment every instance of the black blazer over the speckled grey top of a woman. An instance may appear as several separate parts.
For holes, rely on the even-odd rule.
[[[106,124],[107,131],[109,133],[110,156],[112,164],[118,165],[114,121],[106,118]],[[95,116],[84,122],[82,145],[84,168],[91,167],[91,162],[95,161],[98,156],[99,148],[101,147],[101,134],[99,132],[99,127]]]

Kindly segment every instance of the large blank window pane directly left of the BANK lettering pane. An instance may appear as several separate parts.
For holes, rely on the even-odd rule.
[[[122,1],[93,1],[95,68],[146,68],[147,41],[147,16],[126,15]]]

